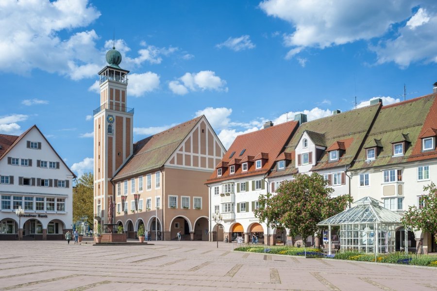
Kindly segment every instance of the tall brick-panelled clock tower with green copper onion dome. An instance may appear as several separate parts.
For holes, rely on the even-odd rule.
[[[129,71],[119,67],[121,54],[115,48],[106,53],[106,62],[99,72],[100,106],[94,110],[94,229],[99,222],[101,228],[114,223],[108,217],[109,204],[115,201],[111,178],[133,153],[134,109],[127,107],[126,91]]]

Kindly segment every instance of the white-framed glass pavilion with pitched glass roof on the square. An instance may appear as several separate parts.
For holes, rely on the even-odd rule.
[[[364,197],[355,201],[352,208],[319,222],[318,226],[328,226],[328,246],[332,245],[331,227],[339,226],[341,251],[394,252],[396,229],[402,226],[402,216],[380,204],[376,199]]]

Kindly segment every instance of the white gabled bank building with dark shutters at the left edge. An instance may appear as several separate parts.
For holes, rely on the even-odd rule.
[[[20,136],[0,134],[0,240],[15,240],[18,234],[63,239],[72,229],[73,178],[36,125]],[[18,208],[25,212],[21,219]]]

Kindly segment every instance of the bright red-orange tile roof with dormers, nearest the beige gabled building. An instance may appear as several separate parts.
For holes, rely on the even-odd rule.
[[[207,180],[207,183],[268,173],[275,163],[276,157],[284,150],[292,134],[298,128],[298,124],[296,121],[289,121],[267,129],[260,129],[238,135],[221,162],[231,162],[232,160],[229,158],[231,153],[234,151],[235,153],[240,153],[243,149],[245,149],[243,155],[238,156],[238,159],[242,158],[240,163],[253,162],[260,157],[262,159],[267,158],[267,161],[261,169],[255,169],[255,165],[249,163],[247,171],[243,172],[242,167],[238,167],[235,174],[231,175],[229,174],[229,170],[225,169],[221,177],[217,177],[217,171],[214,171]],[[235,156],[233,158],[235,159]]]

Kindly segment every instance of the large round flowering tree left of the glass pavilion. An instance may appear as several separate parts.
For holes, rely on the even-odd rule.
[[[343,211],[352,198],[349,194],[331,198],[334,190],[326,187],[328,182],[317,173],[294,178],[282,183],[276,195],[260,195],[259,209],[254,212],[269,226],[285,226],[290,236],[305,240],[318,230],[317,223]]]

